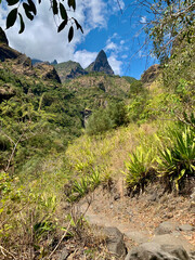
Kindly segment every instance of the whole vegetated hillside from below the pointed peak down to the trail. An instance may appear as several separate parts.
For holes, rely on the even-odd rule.
[[[102,72],[61,80],[72,65],[81,68],[55,65],[57,75],[24,54],[1,58],[1,259],[69,259],[60,258],[62,245],[67,257],[80,250],[73,259],[113,259],[103,251],[105,237],[76,212],[96,188],[110,193],[121,182],[120,196],[129,200],[150,185],[186,199],[193,194],[193,23],[188,31],[140,80]],[[0,49],[9,49],[2,38]]]

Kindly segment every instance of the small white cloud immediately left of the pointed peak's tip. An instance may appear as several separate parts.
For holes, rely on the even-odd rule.
[[[86,68],[96,58],[98,52],[88,52],[87,50],[77,51],[74,53],[73,61],[80,63]]]

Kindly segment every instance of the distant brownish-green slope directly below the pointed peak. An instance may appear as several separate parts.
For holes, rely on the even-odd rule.
[[[110,101],[122,101],[128,96],[130,83],[119,76],[89,74],[65,83],[77,95],[83,108],[105,107]]]

